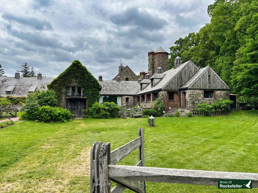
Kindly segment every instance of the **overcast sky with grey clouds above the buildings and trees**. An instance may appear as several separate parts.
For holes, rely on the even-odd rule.
[[[150,49],[169,52],[179,37],[208,23],[213,2],[1,0],[0,64],[7,76],[26,61],[56,77],[77,59],[95,77],[112,79],[121,59],[139,74]]]

